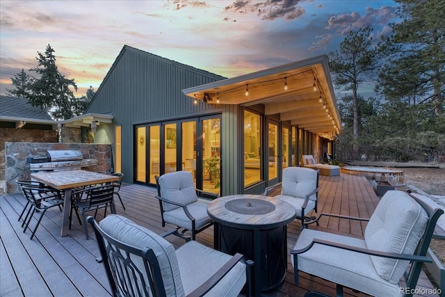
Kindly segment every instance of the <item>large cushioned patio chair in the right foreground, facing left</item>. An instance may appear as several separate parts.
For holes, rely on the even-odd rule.
[[[403,191],[387,191],[371,218],[333,214],[322,216],[368,221],[364,238],[305,228],[298,236],[291,262],[303,271],[343,287],[372,296],[412,296],[432,233],[442,209],[432,209],[422,200]],[[401,278],[405,284],[401,284]]]

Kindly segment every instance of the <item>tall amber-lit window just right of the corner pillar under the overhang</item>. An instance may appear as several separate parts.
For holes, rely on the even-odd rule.
[[[261,116],[244,111],[244,186],[261,180]]]

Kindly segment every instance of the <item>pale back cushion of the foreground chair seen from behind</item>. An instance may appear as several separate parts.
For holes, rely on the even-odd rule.
[[[109,214],[99,222],[99,226],[106,234],[129,246],[141,249],[152,248],[154,255],[158,258],[167,296],[185,296],[175,248],[168,241],[151,230],[117,214]],[[135,257],[134,262],[140,271],[145,271],[142,258]],[[149,285],[147,280],[146,283]]]

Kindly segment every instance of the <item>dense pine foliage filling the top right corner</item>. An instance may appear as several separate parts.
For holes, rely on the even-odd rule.
[[[402,21],[382,42],[387,57],[376,90],[390,100],[428,104],[435,117],[444,111],[445,0],[396,0]]]

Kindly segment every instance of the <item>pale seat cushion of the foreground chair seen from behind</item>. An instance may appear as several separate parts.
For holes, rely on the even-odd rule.
[[[176,254],[186,294],[203,284],[232,257],[196,241],[188,241],[177,249]],[[245,264],[238,262],[205,296],[236,297],[245,281]]]

